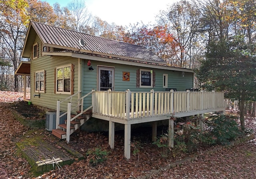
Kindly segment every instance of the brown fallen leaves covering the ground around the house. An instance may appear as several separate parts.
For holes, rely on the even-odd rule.
[[[15,98],[15,97],[13,97]],[[6,100],[6,97],[5,99]],[[0,97],[1,101],[1,97]],[[18,106],[18,105],[17,105]],[[44,135],[44,139],[57,146],[60,141],[51,137],[51,133],[44,129],[30,131],[14,119],[9,103],[0,103],[0,179],[3,178],[32,178],[29,173],[30,165],[26,159],[20,156],[15,143],[22,137],[33,137]],[[246,118],[246,127],[256,129],[256,119]],[[158,130],[158,131],[161,131]],[[150,141],[150,128],[132,130],[132,153],[131,159],[124,158],[124,133],[115,134],[115,149],[108,146],[108,133],[86,133],[78,131],[71,136],[70,146],[86,156],[88,149],[100,147],[109,152],[107,160],[92,166],[90,157],[76,161],[61,169],[55,169],[37,179],[125,179],[145,175],[147,171],[166,166],[175,160],[183,159],[185,155],[179,155],[175,159],[169,157],[164,159],[160,156],[160,149]],[[139,149],[133,155],[134,146]],[[170,170],[162,171],[160,174],[152,175],[152,179],[253,179],[256,178],[256,141],[252,140],[243,145],[222,149],[221,151],[207,154],[207,149],[200,149],[200,153],[194,161],[186,163]],[[137,155],[138,154],[138,155]]]

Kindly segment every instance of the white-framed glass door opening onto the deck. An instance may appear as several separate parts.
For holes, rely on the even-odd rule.
[[[98,91],[114,91],[114,68],[98,67]]]

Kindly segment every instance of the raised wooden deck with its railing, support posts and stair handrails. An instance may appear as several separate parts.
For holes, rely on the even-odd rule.
[[[222,111],[226,108],[224,92],[215,91],[95,91],[84,95],[73,103],[78,93],[63,101],[57,101],[56,128],[59,118],[67,114],[66,139],[70,139],[70,123],[88,109],[92,109],[92,117],[109,121],[109,145],[114,149],[114,123],[124,124],[124,156],[130,159],[131,125],[136,123],[152,122],[152,140],[156,139],[157,122],[168,119],[169,122],[169,147],[173,147],[174,118],[204,113]],[[91,98],[92,105],[85,107],[84,98]],[[68,102],[67,112],[60,115],[60,103]],[[77,104],[76,104],[77,103]],[[73,106],[74,104],[74,106]],[[75,108],[83,109],[75,117],[71,112]],[[200,122],[203,125],[203,122]],[[203,129],[203,126],[201,126]]]

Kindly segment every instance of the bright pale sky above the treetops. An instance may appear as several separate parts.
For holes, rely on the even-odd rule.
[[[58,2],[61,7],[67,6],[72,0],[42,0],[51,6]],[[154,24],[160,10],[166,10],[168,4],[178,0],[85,0],[88,11],[109,24],[119,26],[129,24]]]

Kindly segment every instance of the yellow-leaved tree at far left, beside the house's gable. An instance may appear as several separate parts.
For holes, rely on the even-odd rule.
[[[4,58],[12,61],[14,71],[20,62],[23,39],[28,25],[26,0],[0,0],[0,36]],[[14,76],[14,90],[18,91],[18,77]]]

